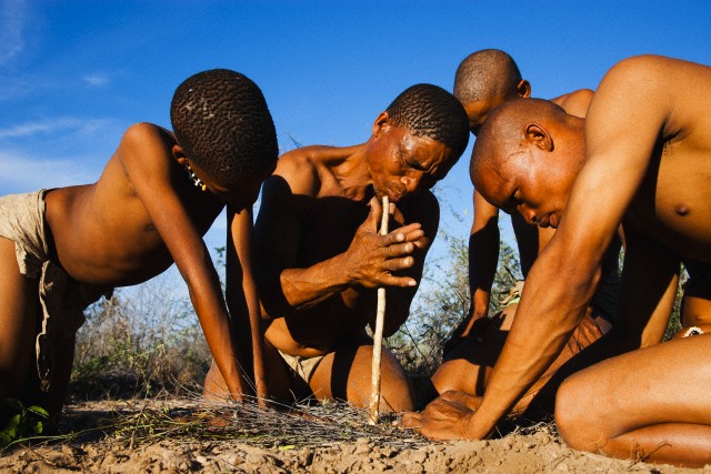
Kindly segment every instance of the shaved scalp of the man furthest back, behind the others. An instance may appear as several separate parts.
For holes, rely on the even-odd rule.
[[[463,104],[517,93],[521,72],[515,61],[498,49],[469,54],[457,68],[454,97]]]

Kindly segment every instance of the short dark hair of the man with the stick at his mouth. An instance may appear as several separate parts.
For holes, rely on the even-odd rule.
[[[432,84],[405,89],[385,110],[392,123],[417,137],[428,137],[451,148],[457,157],[469,142],[469,119],[454,95]]]

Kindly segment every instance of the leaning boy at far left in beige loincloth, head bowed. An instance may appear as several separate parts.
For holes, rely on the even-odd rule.
[[[83,310],[173,262],[228,393],[249,393],[229,326],[259,311],[251,206],[277,164],[274,125],[257,84],[229,70],[180,84],[171,122],[129,128],[93,184],[0,199],[0,400],[58,413]],[[232,322],[202,241],[226,205]]]

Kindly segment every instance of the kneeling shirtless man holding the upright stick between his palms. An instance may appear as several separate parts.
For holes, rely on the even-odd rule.
[[[362,144],[286,153],[264,182],[256,223],[266,363],[280,402],[309,395],[368,406],[377,288],[387,288],[384,335],[405,321],[437,234],[429,191],[467,147],[467,114],[430,84],[402,92]],[[389,196],[390,210],[380,200]],[[379,235],[381,212],[390,229]],[[216,390],[218,389],[216,383]],[[402,366],[383,347],[381,410],[412,410]]]

